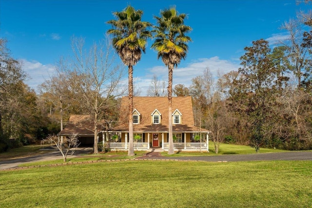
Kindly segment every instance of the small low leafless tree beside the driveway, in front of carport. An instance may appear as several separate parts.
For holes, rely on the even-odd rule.
[[[49,135],[43,140],[43,143],[53,144],[55,149],[58,149],[63,155],[64,162],[68,155],[73,155],[80,143],[78,143],[77,134],[67,136],[66,139],[60,139],[57,135]],[[69,154],[68,154],[69,153]]]

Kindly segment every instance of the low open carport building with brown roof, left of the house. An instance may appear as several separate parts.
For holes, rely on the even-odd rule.
[[[105,122],[98,124],[98,141],[103,138],[103,130]],[[65,128],[58,133],[59,136],[78,135],[78,140],[81,146],[93,146],[94,144],[94,121],[91,115],[72,114]]]

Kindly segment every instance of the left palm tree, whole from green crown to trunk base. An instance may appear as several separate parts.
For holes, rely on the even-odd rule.
[[[112,29],[107,30],[113,36],[113,47],[117,51],[122,62],[128,66],[128,91],[129,91],[129,151],[128,155],[134,155],[133,149],[133,66],[141,59],[142,52],[145,53],[147,39],[151,38],[148,27],[149,22],[141,21],[143,11],[135,10],[127,6],[121,12],[114,12],[116,19],[107,21]]]

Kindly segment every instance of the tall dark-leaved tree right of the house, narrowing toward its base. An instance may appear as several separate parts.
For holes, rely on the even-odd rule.
[[[276,71],[266,40],[253,41],[253,46],[245,47],[245,51],[245,55],[240,58],[240,76],[234,80],[231,108],[246,115],[251,130],[250,145],[259,151],[275,98],[273,81]]]

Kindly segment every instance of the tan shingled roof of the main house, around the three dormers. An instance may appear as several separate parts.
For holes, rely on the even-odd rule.
[[[173,124],[173,132],[199,132],[194,126],[192,97],[173,97],[172,113],[176,109],[182,114],[181,124]],[[133,97],[133,110],[141,115],[139,124],[133,125],[134,132],[168,132],[168,97]],[[161,113],[161,124],[152,124],[151,113]],[[115,131],[128,132],[128,97],[122,97],[118,126]],[[202,132],[209,132],[202,129]]]

